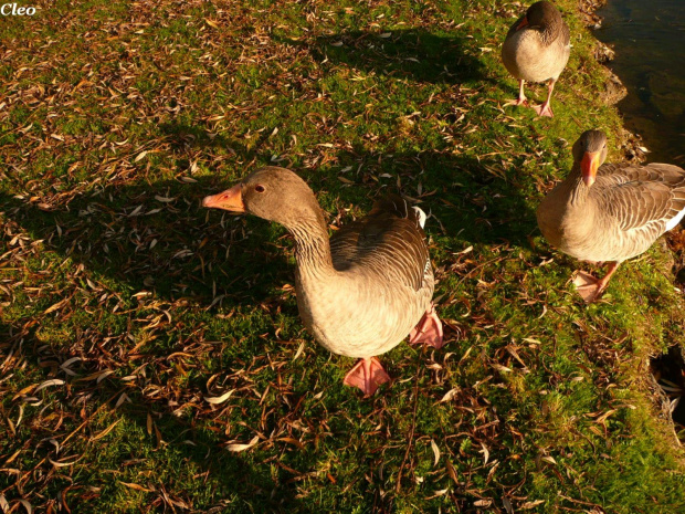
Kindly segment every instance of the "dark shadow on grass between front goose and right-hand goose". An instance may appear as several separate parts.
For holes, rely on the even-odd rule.
[[[516,162],[505,166],[493,158],[446,151],[382,156],[356,147],[338,154],[337,164],[351,167],[340,177],[369,189],[371,198],[388,191],[415,200],[434,218],[429,231],[438,229],[472,243],[527,245],[537,227]]]

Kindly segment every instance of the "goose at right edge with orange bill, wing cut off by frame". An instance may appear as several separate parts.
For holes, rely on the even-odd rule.
[[[646,251],[685,216],[685,170],[650,164],[603,165],[607,135],[584,132],[573,145],[573,168],[537,210],[547,240],[563,253],[589,262],[609,262],[598,280],[579,272],[578,292],[597,300],[619,264]]]

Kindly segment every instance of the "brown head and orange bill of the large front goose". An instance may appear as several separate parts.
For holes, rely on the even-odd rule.
[[[260,168],[231,189],[205,197],[202,206],[246,212],[285,228],[323,219],[309,186],[289,169],[274,166]]]

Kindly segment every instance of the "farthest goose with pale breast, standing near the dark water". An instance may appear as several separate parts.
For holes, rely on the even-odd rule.
[[[528,105],[524,84],[549,81],[547,99],[533,108],[540,116],[552,117],[551,92],[568,63],[571,52],[570,32],[557,8],[550,2],[536,2],[512,25],[504,45],[502,61],[518,78],[515,105]]]

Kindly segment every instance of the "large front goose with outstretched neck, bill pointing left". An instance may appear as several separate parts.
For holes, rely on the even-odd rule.
[[[360,359],[346,385],[368,396],[390,380],[376,356],[408,334],[410,343],[443,345],[431,302],[433,269],[421,209],[399,197],[379,201],[329,240],[312,189],[277,167],[261,168],[202,204],[275,221],[293,235],[295,291],[305,327],[334,354]]]

